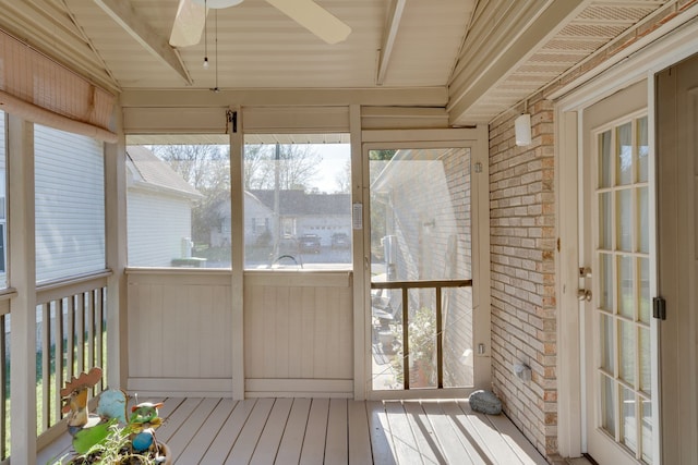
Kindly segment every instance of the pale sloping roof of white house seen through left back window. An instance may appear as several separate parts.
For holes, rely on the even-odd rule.
[[[191,197],[201,197],[201,193],[182,179],[165,161],[160,160],[145,147],[127,147],[127,157],[135,172],[136,181],[152,187],[166,189]]]

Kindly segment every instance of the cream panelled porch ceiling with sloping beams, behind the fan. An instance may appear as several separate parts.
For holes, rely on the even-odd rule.
[[[328,45],[269,2],[244,0],[209,10],[204,38],[176,48],[178,3],[0,0],[0,29],[115,94],[436,88],[423,105],[467,125],[697,14],[696,0],[316,0],[351,27]]]

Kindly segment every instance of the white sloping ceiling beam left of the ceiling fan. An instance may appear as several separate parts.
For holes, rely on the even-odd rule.
[[[179,74],[186,84],[193,84],[179,53],[168,44],[168,38],[157,35],[141,20],[129,0],[95,0],[95,3],[151,54]]]

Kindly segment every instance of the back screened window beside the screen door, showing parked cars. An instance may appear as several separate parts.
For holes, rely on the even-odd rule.
[[[348,269],[350,181],[345,134],[245,138],[245,268]]]

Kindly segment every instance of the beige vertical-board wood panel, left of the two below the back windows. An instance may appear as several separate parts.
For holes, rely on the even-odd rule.
[[[232,392],[226,270],[129,270],[129,392]]]

